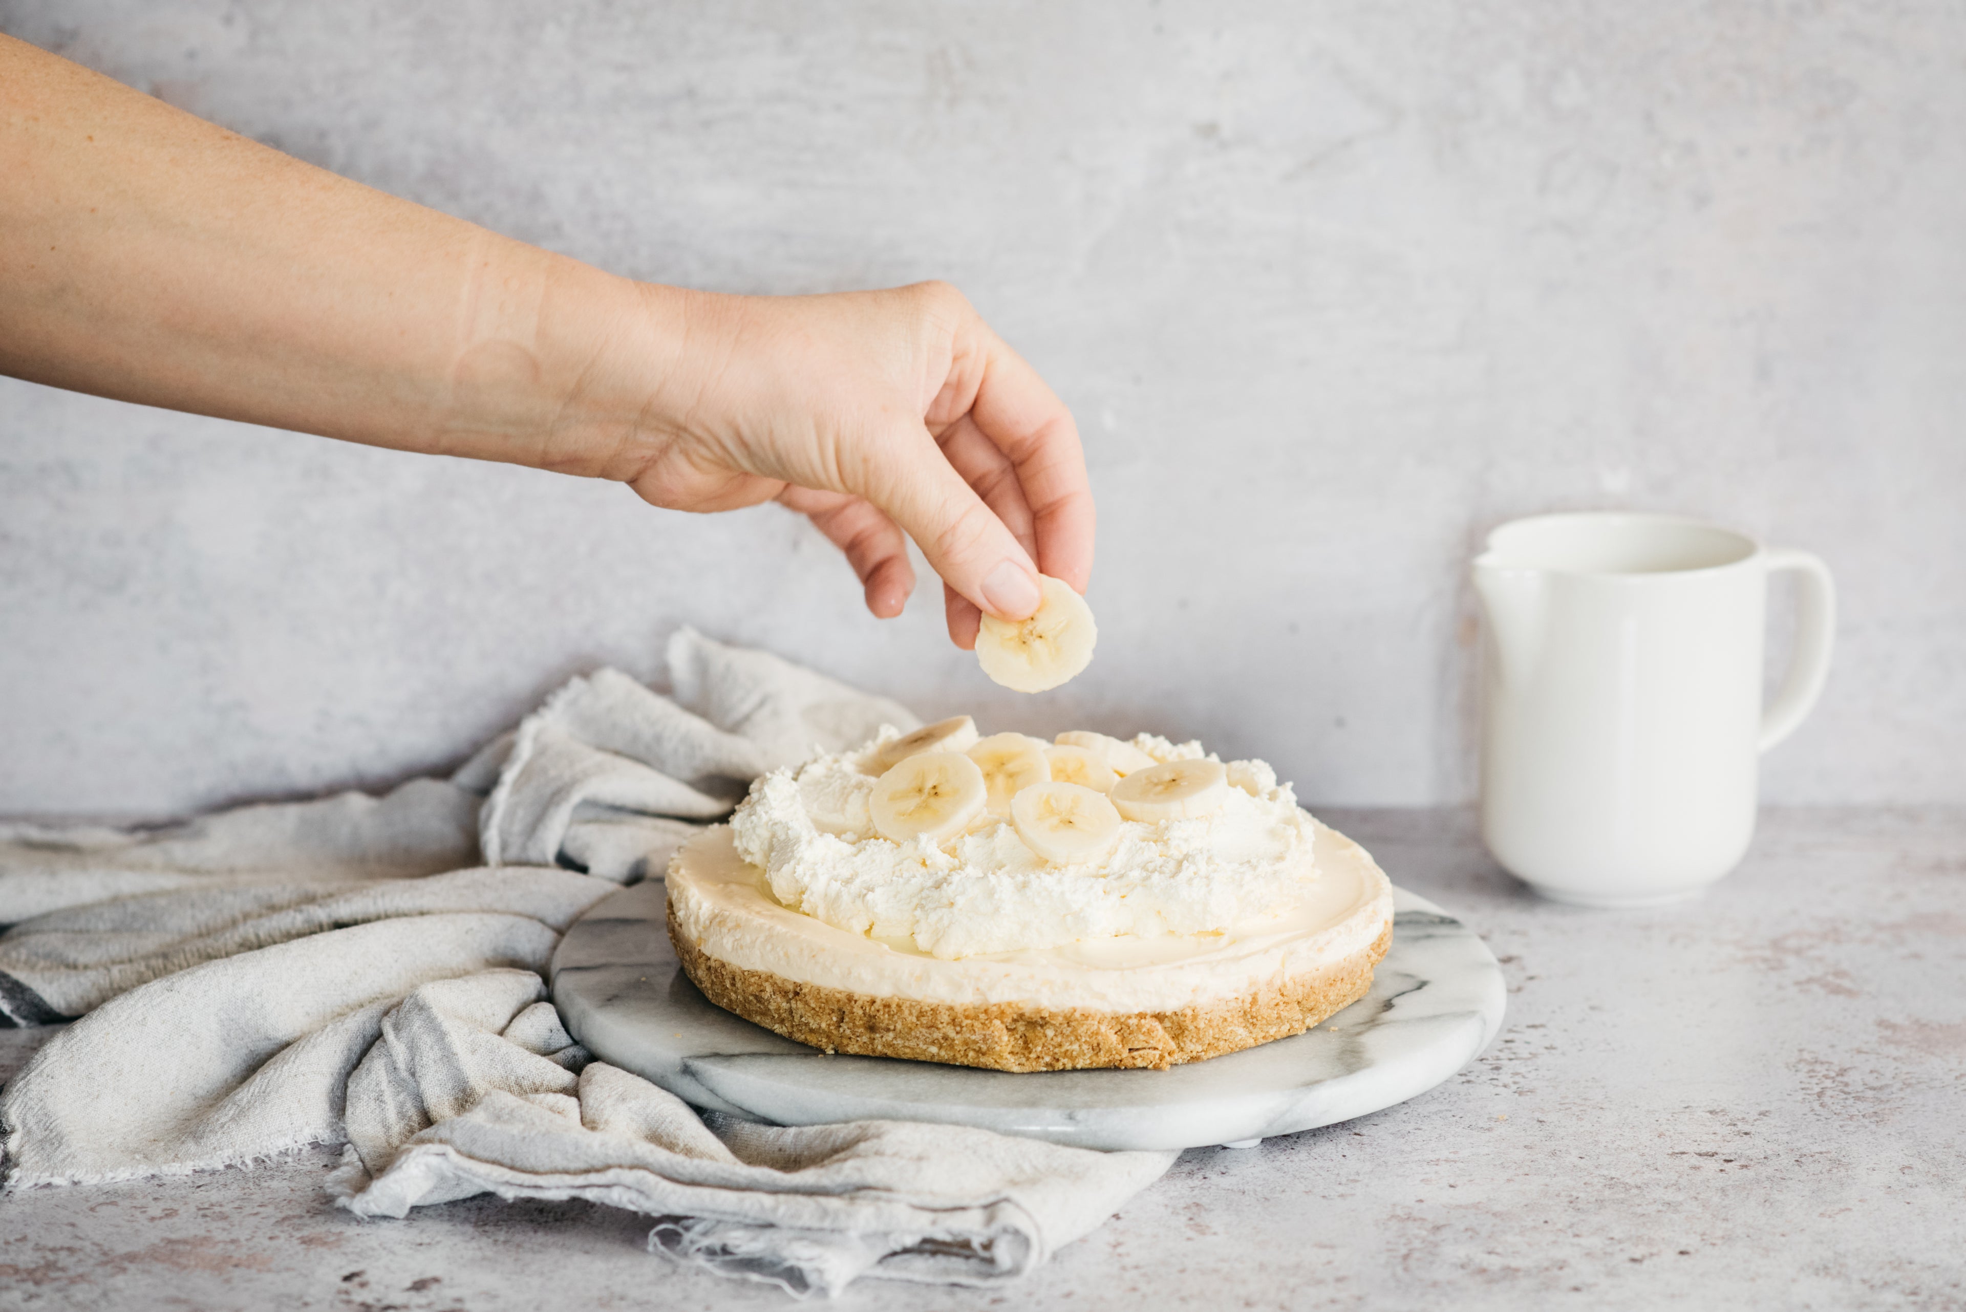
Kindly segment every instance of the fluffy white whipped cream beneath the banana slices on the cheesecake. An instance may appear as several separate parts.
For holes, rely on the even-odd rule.
[[[765,871],[771,897],[849,934],[942,960],[1127,938],[1262,934],[1313,901],[1317,822],[1262,761],[1231,761],[1215,812],[1125,820],[1097,862],[1054,865],[981,816],[936,846],[873,830],[869,751],[824,755],[751,785],[731,816],[735,852]],[[1152,734],[1132,745],[1156,761],[1201,757],[1201,744]],[[1213,759],[1213,757],[1211,757]]]

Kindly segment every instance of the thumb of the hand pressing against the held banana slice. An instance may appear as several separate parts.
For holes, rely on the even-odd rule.
[[[963,482],[928,429],[879,445],[879,462],[851,488],[916,541],[942,580],[999,620],[1036,614],[1038,567],[983,498]]]

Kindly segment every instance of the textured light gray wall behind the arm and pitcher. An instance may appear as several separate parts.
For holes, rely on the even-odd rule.
[[[1465,559],[1712,515],[1844,590],[1789,803],[1966,801],[1966,12],[0,2],[0,30],[637,277],[948,277],[1079,415],[1099,659],[1020,702],[777,507],[0,380],[0,814],[458,757],[680,622],[989,726],[1473,793]],[[267,295],[279,295],[267,287]]]

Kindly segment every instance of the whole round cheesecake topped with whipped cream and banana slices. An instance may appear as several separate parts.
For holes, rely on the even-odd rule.
[[[1392,887],[1262,761],[967,716],[781,769],[676,850],[716,1005],[826,1052],[1168,1068],[1364,997]]]

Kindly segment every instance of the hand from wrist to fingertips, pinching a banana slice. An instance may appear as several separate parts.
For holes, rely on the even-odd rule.
[[[1038,570],[1085,590],[1093,498],[1077,427],[959,291],[645,293],[657,336],[688,325],[637,433],[647,458],[625,474],[645,500],[779,500],[847,555],[881,618],[914,590],[906,533],[942,574],[965,649],[979,608],[1038,608]]]

